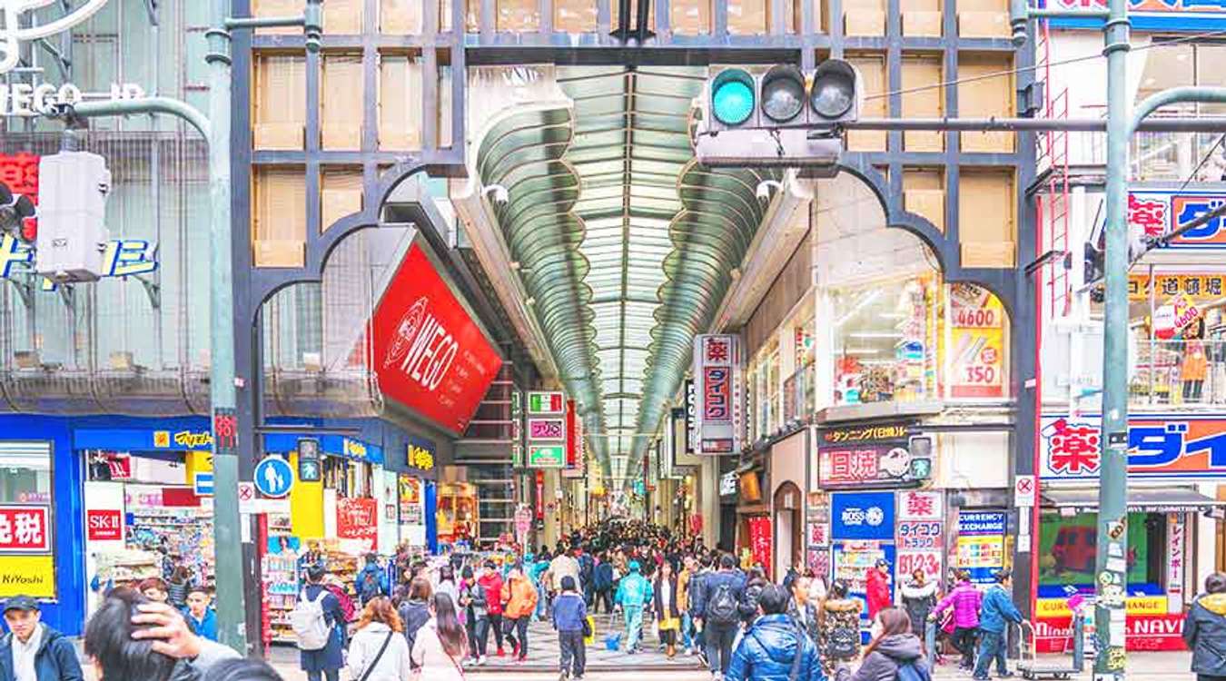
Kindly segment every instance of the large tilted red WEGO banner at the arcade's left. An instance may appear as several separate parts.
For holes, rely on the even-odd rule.
[[[384,394],[463,432],[503,360],[416,244],[371,320]]]

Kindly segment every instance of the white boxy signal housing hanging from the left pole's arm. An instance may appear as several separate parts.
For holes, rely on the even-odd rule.
[[[89,152],[44,156],[38,182],[36,269],[58,283],[98,280],[107,247],[107,160]]]

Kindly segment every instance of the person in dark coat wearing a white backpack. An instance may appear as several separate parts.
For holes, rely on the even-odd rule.
[[[338,681],[345,666],[345,612],[336,595],[324,587],[324,568],[306,570],[306,585],[289,614],[298,636],[299,664],[308,681]]]

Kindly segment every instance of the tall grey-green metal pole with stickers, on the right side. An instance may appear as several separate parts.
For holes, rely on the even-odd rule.
[[[1125,677],[1124,594],[1128,556],[1128,0],[1108,0],[1103,27],[1107,56],[1107,219],[1102,367],[1102,434],[1098,465],[1098,536],[1094,623],[1098,639],[1094,677]]]

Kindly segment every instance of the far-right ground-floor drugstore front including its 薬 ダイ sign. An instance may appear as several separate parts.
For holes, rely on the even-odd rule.
[[[1130,650],[1178,650],[1184,608],[1198,592],[1198,529],[1226,514],[1226,502],[1201,492],[1198,483],[1226,473],[1217,442],[1226,419],[1213,415],[1134,414],[1129,418],[1129,490],[1124,555]],[[1096,415],[1043,418],[1041,447],[1038,643],[1063,649],[1072,614],[1067,593],[1095,592],[1097,555],[1098,437]]]

